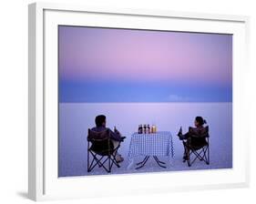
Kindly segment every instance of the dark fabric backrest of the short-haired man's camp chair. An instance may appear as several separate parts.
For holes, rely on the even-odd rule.
[[[109,152],[114,148],[108,129],[101,132],[88,129],[87,141],[92,143],[90,149],[97,153]]]

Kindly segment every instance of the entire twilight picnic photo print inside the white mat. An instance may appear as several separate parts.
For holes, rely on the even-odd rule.
[[[232,35],[58,26],[58,177],[232,168]]]

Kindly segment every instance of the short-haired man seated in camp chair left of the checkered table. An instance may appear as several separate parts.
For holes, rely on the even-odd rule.
[[[109,130],[110,132],[110,138],[112,140],[112,143],[114,145],[114,148],[117,148],[118,145],[120,144],[120,142],[124,141],[124,138],[126,137],[121,137],[121,134],[119,133],[119,131],[115,128],[115,132],[113,132],[111,129],[106,128],[106,116],[104,115],[99,115],[97,117],[95,117],[95,123],[96,123],[96,127],[95,128],[91,128],[91,130],[96,131],[96,132],[101,132],[104,130]],[[121,157],[120,154],[116,155],[116,160],[117,162],[122,162],[124,160],[124,158]]]

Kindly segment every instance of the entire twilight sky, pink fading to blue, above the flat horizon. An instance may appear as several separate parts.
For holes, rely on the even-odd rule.
[[[232,36],[59,26],[61,102],[232,100]]]

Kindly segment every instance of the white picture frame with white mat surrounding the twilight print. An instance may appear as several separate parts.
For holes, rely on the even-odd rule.
[[[34,200],[118,194],[224,189],[249,185],[249,132],[246,106],[249,71],[248,16],[174,11],[111,9],[86,5],[28,5],[29,134],[28,196]],[[57,25],[158,28],[233,35],[233,168],[97,177],[57,178]],[[50,137],[49,137],[50,136]],[[164,182],[163,182],[164,181]],[[100,185],[98,185],[100,183]],[[109,185],[112,185],[109,189]]]

